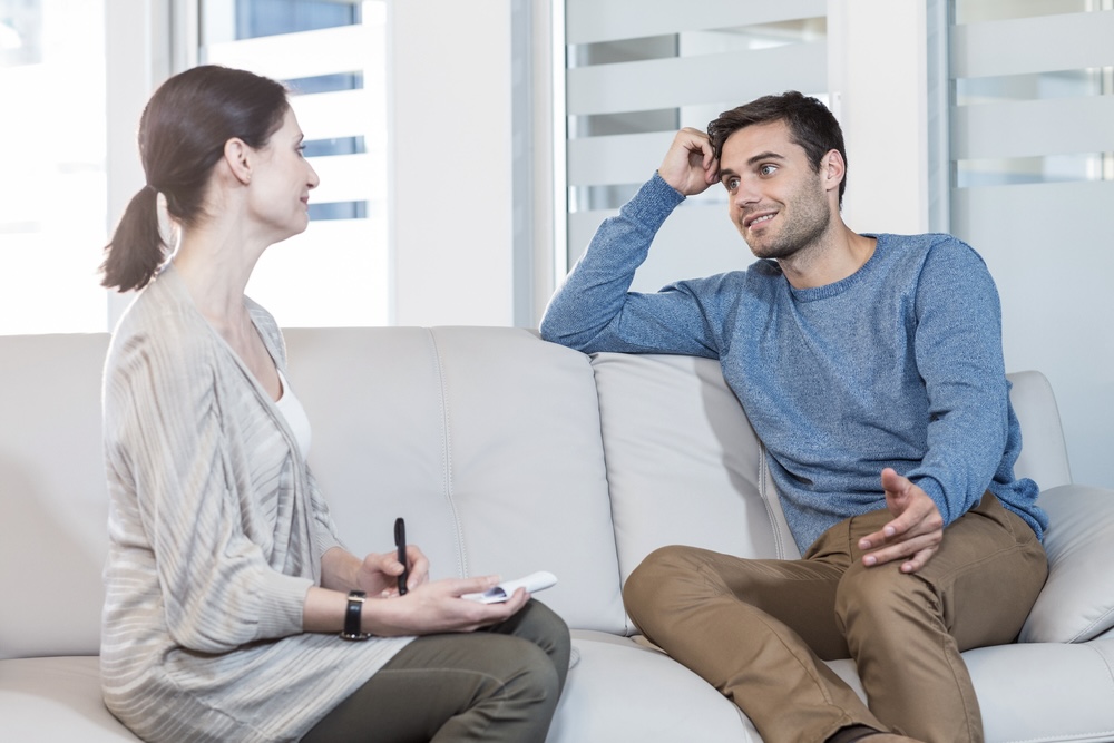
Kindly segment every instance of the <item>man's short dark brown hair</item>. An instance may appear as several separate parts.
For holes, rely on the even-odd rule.
[[[793,144],[804,149],[812,169],[820,172],[820,160],[831,150],[838,150],[843,158],[843,179],[839,184],[839,202],[843,204],[847,189],[847,150],[843,147],[843,131],[828,107],[815,98],[789,90],[780,96],[763,96],[730,111],[720,114],[707,125],[707,136],[712,140],[716,159],[723,154],[723,143],[740,129],[755,124],[784,121],[789,127]]]

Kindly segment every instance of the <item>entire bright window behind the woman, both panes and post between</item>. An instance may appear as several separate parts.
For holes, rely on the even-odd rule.
[[[388,323],[384,37],[385,0],[0,0],[0,333],[110,329],[129,297],[98,266],[143,185],[139,113],[203,62],[286,82],[322,179],[251,295],[286,325]]]

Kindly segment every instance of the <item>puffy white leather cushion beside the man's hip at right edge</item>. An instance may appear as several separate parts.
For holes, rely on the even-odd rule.
[[[1048,581],[1020,641],[1083,643],[1114,626],[1114,490],[1064,485],[1040,493]]]

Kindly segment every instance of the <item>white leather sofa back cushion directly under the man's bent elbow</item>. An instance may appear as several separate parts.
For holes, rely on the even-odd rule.
[[[624,581],[664,545],[800,557],[719,362],[600,353],[593,369]]]

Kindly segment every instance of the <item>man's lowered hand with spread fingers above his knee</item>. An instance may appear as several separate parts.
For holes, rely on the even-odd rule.
[[[882,489],[895,518],[881,531],[859,540],[859,549],[867,553],[862,564],[870,567],[908,558],[901,571],[916,573],[939,549],[944,517],[928,493],[889,467],[882,470]]]

